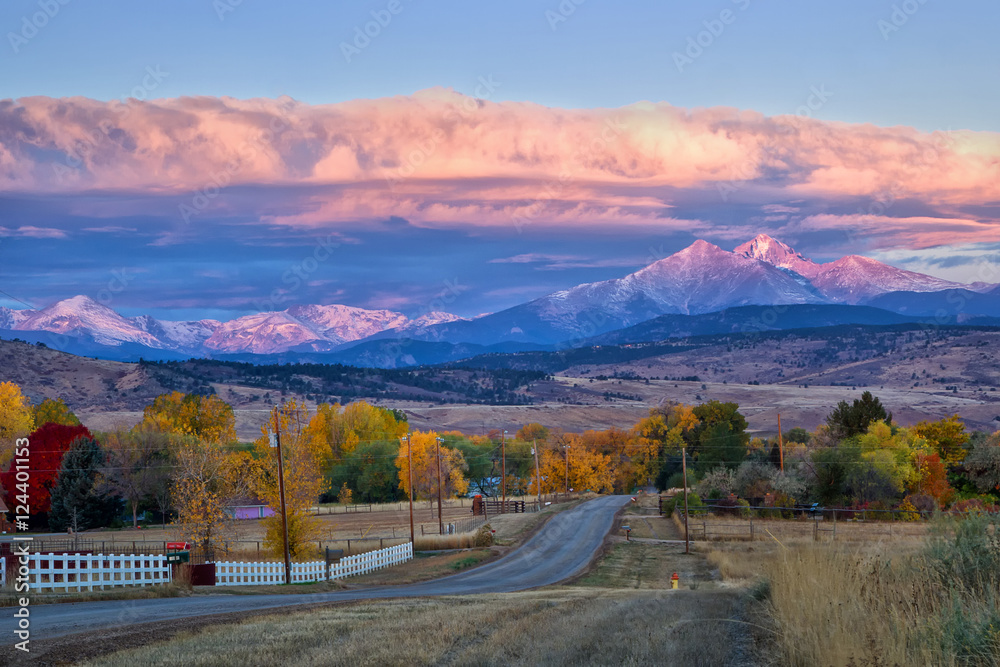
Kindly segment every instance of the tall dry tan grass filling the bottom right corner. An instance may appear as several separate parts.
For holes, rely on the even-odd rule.
[[[764,565],[790,665],[1000,665],[1000,519],[945,520],[892,543],[779,550]]]

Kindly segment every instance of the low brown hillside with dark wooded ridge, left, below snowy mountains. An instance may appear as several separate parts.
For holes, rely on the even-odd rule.
[[[73,410],[137,411],[160,394],[219,393],[241,407],[262,408],[282,396],[315,401],[355,399],[526,405],[539,371],[418,368],[382,370],[334,364],[256,365],[232,361],[123,363],[79,357],[21,341],[0,340],[0,379],[33,402],[62,398]]]

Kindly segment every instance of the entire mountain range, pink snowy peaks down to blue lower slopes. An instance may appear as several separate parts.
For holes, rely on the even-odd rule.
[[[452,360],[462,354],[589,345],[601,341],[595,337],[602,334],[632,327],[632,334],[625,336],[631,341],[640,332],[653,336],[663,333],[664,326],[666,331],[691,326],[681,318],[669,325],[636,328],[663,316],[795,305],[847,308],[825,315],[816,311],[816,322],[865,323],[872,320],[869,311],[875,308],[904,319],[961,322],[1000,317],[1000,285],[951,282],[858,255],[816,263],[761,234],[732,252],[699,240],[622,278],[577,285],[474,319],[443,312],[410,319],[390,310],[334,304],[296,305],[227,322],[168,321],[148,315],[124,317],[89,297],[75,296],[39,310],[0,307],[0,333],[115,359],[340,353],[362,365],[379,366],[409,363],[407,350],[399,348],[433,349],[435,355]],[[873,308],[851,310],[859,306]],[[776,318],[781,310],[774,308],[770,316]],[[802,314],[806,311],[799,312],[796,326],[808,325],[809,317]],[[437,345],[416,345],[420,342]],[[345,354],[355,346],[363,347]]]

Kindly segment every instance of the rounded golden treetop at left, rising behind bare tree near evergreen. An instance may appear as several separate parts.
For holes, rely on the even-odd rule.
[[[218,396],[179,391],[157,396],[143,411],[142,427],[190,435],[213,444],[236,440],[233,408]]]

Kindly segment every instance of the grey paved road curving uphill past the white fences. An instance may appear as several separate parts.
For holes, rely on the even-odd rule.
[[[287,607],[317,602],[505,593],[547,586],[586,568],[611,530],[626,496],[596,498],[556,514],[528,542],[503,558],[466,572],[406,586],[332,593],[205,595],[188,598],[47,604],[31,608],[31,638],[96,632],[135,623]]]

